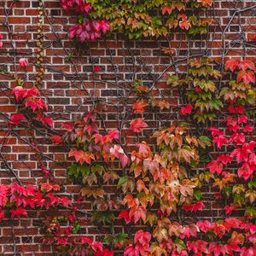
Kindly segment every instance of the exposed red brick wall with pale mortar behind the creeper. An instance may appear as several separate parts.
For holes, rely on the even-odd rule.
[[[209,28],[207,35],[192,39],[186,38],[183,33],[173,33],[170,46],[176,49],[176,54],[171,58],[161,51],[161,47],[168,47],[166,38],[128,41],[121,34],[112,34],[105,40],[75,48],[67,38],[67,29],[75,19],[63,13],[60,1],[44,0],[45,74],[40,90],[49,104],[48,115],[55,119],[54,128],[60,129],[63,121],[79,119],[84,112],[93,108],[96,102],[103,102],[107,111],[102,115],[102,129],[105,126],[123,130],[122,143],[130,151],[137,140],[147,139],[155,128],[170,125],[172,121],[180,119],[177,111],[172,109],[148,109],[143,117],[151,128],[143,131],[142,136],[134,137],[126,129],[133,117],[131,98],[134,95],[131,94],[131,81],[142,79],[145,85],[154,86],[155,97],[159,97],[160,92],[163,96],[182,104],[179,91],[168,90],[164,81],[168,73],[185,71],[189,57],[208,55],[221,63],[224,56],[255,56],[255,43],[247,41],[247,35],[256,32],[255,3],[233,0],[213,2],[214,9],[208,10],[207,15],[214,17],[216,25]],[[34,83],[37,71],[38,3],[32,0],[0,3],[0,32],[3,34],[0,67],[9,72],[16,72],[26,81],[27,87]],[[251,8],[253,4],[254,8]],[[72,58],[68,61],[70,56]],[[20,57],[26,57],[29,61],[26,73],[17,65]],[[92,73],[95,65],[101,67],[100,73]],[[15,129],[11,134],[7,132],[6,122],[9,115],[15,113],[15,104],[6,92],[15,86],[13,79],[0,75],[0,180],[1,183],[8,183],[14,180],[16,175],[23,184],[34,184],[43,176],[30,145],[31,138],[37,137],[48,167],[54,161],[68,160],[67,148],[53,146],[48,131],[43,128],[38,128],[33,134],[22,127]],[[219,118],[221,119],[221,116]],[[13,171],[10,172],[9,168]],[[65,166],[55,166],[53,170],[57,183],[66,180]],[[114,195],[115,189],[108,187],[109,195]],[[78,191],[79,186],[70,183],[62,190],[70,196]],[[208,188],[206,191],[208,193],[204,200],[212,207],[202,214],[206,218],[218,218],[223,214],[223,209],[211,202],[212,191]],[[88,211],[93,209],[91,201],[83,201],[83,205]],[[29,212],[30,218],[3,219],[0,224],[0,253],[55,255],[50,246],[42,245],[42,221],[45,214]],[[81,218],[83,217],[81,214]],[[122,230],[120,222],[115,225],[115,229]],[[83,231],[91,236],[99,233],[99,230],[91,225],[84,225]]]

